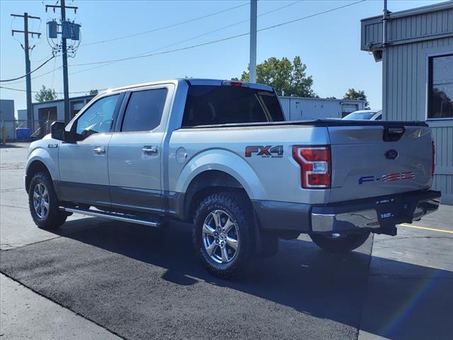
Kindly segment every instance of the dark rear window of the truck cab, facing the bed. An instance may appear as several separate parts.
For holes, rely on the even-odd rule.
[[[183,127],[285,120],[273,91],[234,86],[192,85]]]

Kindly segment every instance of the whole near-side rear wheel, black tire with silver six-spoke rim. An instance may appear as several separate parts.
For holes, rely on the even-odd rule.
[[[250,202],[232,192],[207,196],[195,212],[193,242],[210,273],[222,278],[236,276],[253,254]]]

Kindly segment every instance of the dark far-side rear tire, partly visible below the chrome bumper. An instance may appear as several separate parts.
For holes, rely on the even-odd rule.
[[[347,234],[341,237],[331,237],[323,234],[310,234],[309,236],[321,249],[336,254],[357,249],[367,241],[369,232],[363,234]]]

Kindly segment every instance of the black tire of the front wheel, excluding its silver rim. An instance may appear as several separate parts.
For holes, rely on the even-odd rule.
[[[42,185],[47,189],[49,208],[47,214],[43,218],[38,216],[33,203],[33,195],[35,193],[35,188],[38,185]],[[38,172],[30,181],[30,188],[28,190],[28,208],[30,209],[33,222],[41,229],[58,228],[63,225],[67,219],[67,214],[58,209],[58,200],[52,179],[44,172]]]

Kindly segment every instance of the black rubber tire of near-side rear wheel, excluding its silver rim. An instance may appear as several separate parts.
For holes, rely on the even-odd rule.
[[[223,210],[237,225],[239,246],[231,262],[217,263],[205,249],[203,239],[203,224],[211,212]],[[219,278],[231,278],[246,269],[253,256],[255,237],[253,233],[253,214],[250,201],[241,193],[222,192],[207,196],[195,211],[193,219],[193,244],[207,271]]]

